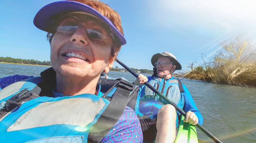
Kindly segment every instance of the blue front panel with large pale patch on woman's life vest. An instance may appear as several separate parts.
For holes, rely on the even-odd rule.
[[[90,128],[108,104],[108,100],[94,94],[38,97],[25,102],[0,122],[4,131],[0,138],[3,141],[26,142],[59,136],[83,136],[86,143]],[[91,109],[86,110],[88,108]]]

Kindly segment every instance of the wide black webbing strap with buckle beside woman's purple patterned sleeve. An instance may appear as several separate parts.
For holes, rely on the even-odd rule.
[[[110,104],[90,130],[88,138],[91,141],[99,143],[111,128],[113,128],[123,114],[123,111],[131,98],[131,91],[133,91],[133,84],[124,80],[119,81]]]

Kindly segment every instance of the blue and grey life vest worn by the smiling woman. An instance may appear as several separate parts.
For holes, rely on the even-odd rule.
[[[55,76],[51,72],[53,69],[48,69],[43,74]],[[128,104],[136,108],[138,86],[128,81],[113,80],[111,86],[107,84],[108,80],[100,81],[105,90],[102,97],[80,94],[54,98],[45,94],[49,92],[45,86],[52,86],[52,83],[44,79],[54,80],[46,76],[34,77],[0,91],[1,142],[100,142]]]

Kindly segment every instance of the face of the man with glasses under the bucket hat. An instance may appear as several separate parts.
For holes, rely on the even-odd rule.
[[[162,78],[162,77],[164,77],[164,76],[166,76],[168,74],[172,74],[174,72],[174,66],[175,65],[173,64],[173,62],[170,61],[169,58],[167,58],[167,57],[159,57],[157,62],[166,63],[165,66],[161,66],[161,64],[158,64],[156,66],[157,76]]]

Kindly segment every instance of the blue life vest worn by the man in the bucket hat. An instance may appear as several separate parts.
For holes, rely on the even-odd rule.
[[[148,77],[148,83],[154,86],[161,94],[174,102],[180,108],[184,106],[184,98],[181,93],[184,92],[182,84],[179,79],[162,79],[158,76]],[[141,100],[139,104],[139,111],[149,118],[156,118],[159,109],[167,104],[164,100],[159,98],[154,91],[147,86],[141,92]],[[141,115],[142,116],[142,115]]]

